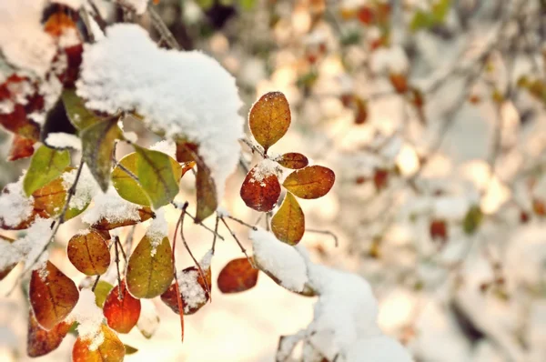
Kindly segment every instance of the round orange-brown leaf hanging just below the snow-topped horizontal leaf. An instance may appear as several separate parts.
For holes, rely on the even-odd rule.
[[[95,230],[72,236],[66,246],[68,259],[86,276],[100,276],[110,266],[110,250],[103,236]]]

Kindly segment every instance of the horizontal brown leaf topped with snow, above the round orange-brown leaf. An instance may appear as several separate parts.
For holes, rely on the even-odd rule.
[[[120,226],[135,225],[146,221],[153,215],[149,207],[132,204],[116,193],[114,187],[98,193],[93,198],[93,206],[82,216],[82,221],[99,230],[111,230]]]

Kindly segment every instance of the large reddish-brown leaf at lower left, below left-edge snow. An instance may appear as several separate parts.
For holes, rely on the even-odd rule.
[[[51,329],[74,309],[79,293],[76,284],[53,263],[33,270],[28,291],[36,320],[45,329]]]

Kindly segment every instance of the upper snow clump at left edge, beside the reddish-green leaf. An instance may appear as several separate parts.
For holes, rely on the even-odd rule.
[[[0,195],[0,220],[6,226],[17,226],[32,215],[34,198],[25,196],[24,178],[22,175],[17,182],[6,185]]]

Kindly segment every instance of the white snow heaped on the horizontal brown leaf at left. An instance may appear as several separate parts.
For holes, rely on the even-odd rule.
[[[105,218],[109,223],[118,223],[124,220],[139,221],[138,209],[140,206],[130,203],[119,195],[116,189],[110,186],[106,193],[99,192],[93,199],[93,206],[86,209],[82,221],[94,225]]]

